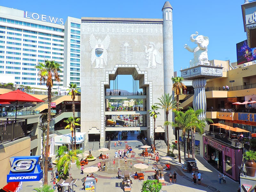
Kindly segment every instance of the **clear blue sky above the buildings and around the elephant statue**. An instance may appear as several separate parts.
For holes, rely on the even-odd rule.
[[[209,60],[236,61],[236,43],[246,39],[241,4],[244,0],[172,0],[174,71],[189,66],[193,53],[183,48],[193,47],[189,37],[195,31],[209,37]],[[84,0],[84,1],[2,1],[1,6],[63,18],[121,17],[162,18],[165,0]],[[127,85],[126,85],[127,86]]]

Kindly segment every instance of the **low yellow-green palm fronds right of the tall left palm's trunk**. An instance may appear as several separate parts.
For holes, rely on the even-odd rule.
[[[63,169],[63,173],[67,174],[67,172],[69,172],[69,178],[71,176],[70,173],[70,165],[71,162],[76,162],[76,167],[80,168],[80,161],[79,161],[79,157],[77,156],[77,154],[82,153],[81,150],[76,149],[76,150],[69,150],[68,152],[63,152],[56,164],[57,166],[57,170],[58,172],[61,172]]]

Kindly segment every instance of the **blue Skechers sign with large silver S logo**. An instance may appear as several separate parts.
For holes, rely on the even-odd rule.
[[[7,175],[7,183],[14,181],[39,181],[43,178],[43,171],[39,161],[41,156],[11,157],[11,171]]]

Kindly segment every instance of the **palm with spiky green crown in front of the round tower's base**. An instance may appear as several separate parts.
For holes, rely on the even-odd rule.
[[[165,93],[165,95],[162,95],[161,98],[158,98],[158,100],[160,101],[160,103],[156,103],[156,105],[159,105],[162,109],[164,109],[166,122],[168,122],[169,111],[175,108],[175,103],[173,102],[174,100],[172,100],[172,95],[170,95],[169,93],[168,94]],[[166,122],[165,122],[165,125],[166,125],[166,134],[167,134],[167,154],[169,155],[170,153],[169,128],[168,128],[169,123],[166,123]]]

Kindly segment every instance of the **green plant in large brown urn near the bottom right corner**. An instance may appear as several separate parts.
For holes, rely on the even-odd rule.
[[[246,167],[246,172],[247,176],[255,177],[255,172],[256,172],[256,151],[246,151],[244,153],[244,159],[246,160],[245,162],[245,167]],[[251,168],[249,168],[251,167]]]

